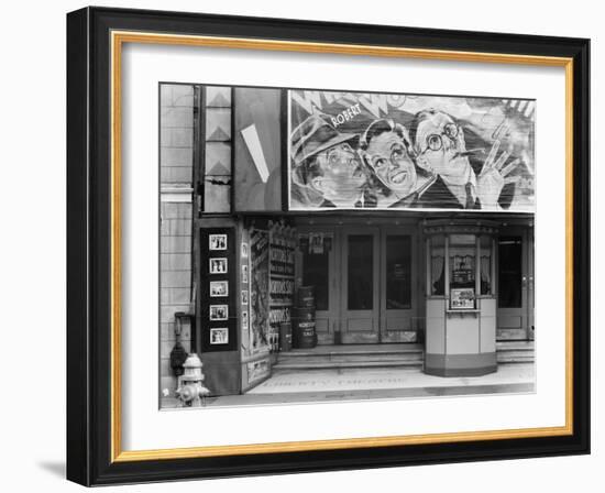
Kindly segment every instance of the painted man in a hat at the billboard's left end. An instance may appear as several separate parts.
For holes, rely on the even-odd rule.
[[[363,207],[367,176],[351,146],[324,114],[311,114],[292,132],[292,205],[305,208]]]

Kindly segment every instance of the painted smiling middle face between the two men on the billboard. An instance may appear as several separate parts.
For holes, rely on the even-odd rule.
[[[397,196],[406,196],[414,190],[416,167],[397,132],[375,135],[366,152],[370,166],[389,190]]]

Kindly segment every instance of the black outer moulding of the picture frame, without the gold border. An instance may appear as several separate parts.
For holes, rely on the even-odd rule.
[[[156,32],[572,62],[572,432],[442,443],[116,460],[111,374],[112,31]],[[84,485],[590,453],[590,40],[85,8],[67,15],[67,479]],[[114,342],[114,341],[113,341]],[[118,448],[117,448],[118,447]]]

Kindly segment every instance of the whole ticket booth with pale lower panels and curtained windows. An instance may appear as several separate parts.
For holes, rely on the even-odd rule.
[[[427,221],[425,372],[479,376],[497,370],[497,224]]]

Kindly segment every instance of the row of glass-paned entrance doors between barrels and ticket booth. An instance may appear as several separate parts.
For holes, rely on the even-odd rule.
[[[413,233],[342,227],[310,234],[329,238],[329,246],[301,252],[300,285],[315,288],[319,342],[410,340],[417,278]]]

